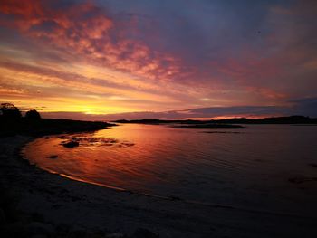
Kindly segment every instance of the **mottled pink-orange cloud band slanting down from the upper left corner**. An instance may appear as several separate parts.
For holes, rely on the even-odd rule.
[[[0,12],[14,16],[0,24],[94,64],[156,80],[168,80],[180,72],[173,56],[124,38],[121,31],[126,29],[118,29],[91,3],[53,10],[40,1],[4,1]]]

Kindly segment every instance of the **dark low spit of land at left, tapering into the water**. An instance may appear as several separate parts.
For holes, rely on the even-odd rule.
[[[45,135],[75,133],[106,129],[115,124],[102,121],[71,119],[1,119],[0,137],[24,135],[40,137]]]

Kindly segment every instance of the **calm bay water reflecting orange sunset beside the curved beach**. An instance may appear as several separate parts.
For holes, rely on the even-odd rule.
[[[61,136],[39,138],[24,155],[50,172],[139,193],[281,213],[317,211],[315,126],[131,124],[71,137],[79,147],[64,148],[69,138]]]

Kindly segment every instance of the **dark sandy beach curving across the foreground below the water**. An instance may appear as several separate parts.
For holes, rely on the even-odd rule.
[[[15,219],[1,218],[3,233],[24,229],[42,237],[317,237],[312,217],[187,204],[49,174],[19,155],[32,139],[0,138],[1,183],[5,194],[10,190],[17,199],[18,210]]]

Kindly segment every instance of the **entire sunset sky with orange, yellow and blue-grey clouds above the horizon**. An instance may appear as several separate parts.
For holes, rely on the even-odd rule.
[[[46,118],[317,117],[317,2],[2,0],[0,102]]]

